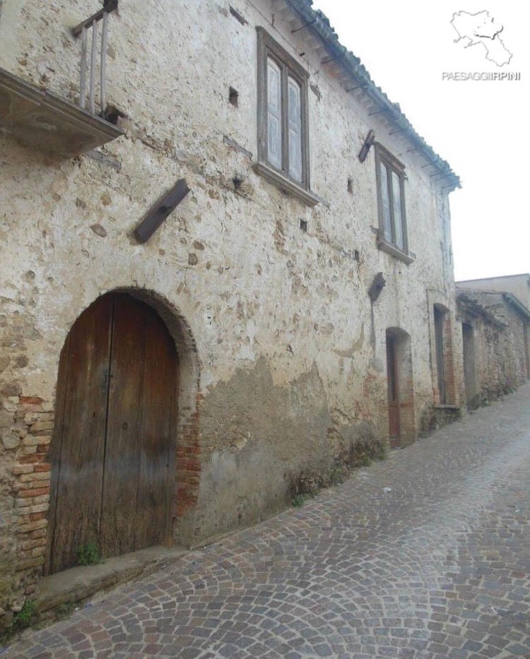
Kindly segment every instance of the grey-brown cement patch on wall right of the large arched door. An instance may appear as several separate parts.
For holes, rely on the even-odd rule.
[[[275,386],[261,357],[211,387],[201,407],[201,470],[196,535],[261,521],[288,504],[293,474],[329,469],[331,426],[326,392],[314,365]]]

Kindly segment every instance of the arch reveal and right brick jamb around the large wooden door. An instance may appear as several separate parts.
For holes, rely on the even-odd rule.
[[[200,362],[192,331],[182,314],[165,297],[150,290],[119,287],[109,292],[102,292],[100,296],[79,314],[76,321],[72,323],[66,341],[69,340],[71,330],[76,325],[78,319],[105,297],[112,297],[112,299],[131,299],[130,304],[136,305],[136,308],[142,309],[145,307],[146,309],[151,309],[151,317],[158,318],[158,321],[155,322],[158,322],[160,327],[163,326],[167,333],[166,336],[170,337],[167,338],[167,345],[172,344],[174,347],[173,350],[176,350],[178,411],[175,414],[171,429],[168,431],[173,447],[169,453],[170,461],[168,464],[170,463],[169,469],[173,470],[175,474],[175,480],[172,481],[167,499],[167,537],[165,541],[176,540],[179,544],[187,544],[188,538],[177,537],[177,526],[179,518],[182,517],[187,509],[193,507],[196,502],[198,483],[196,482],[196,478],[192,479],[189,475],[193,473],[196,476],[199,470],[200,452],[198,432],[198,407],[201,398]],[[136,302],[133,302],[133,300],[136,300]],[[56,408],[57,404],[56,400]],[[108,414],[109,412],[107,410]],[[56,410],[56,429],[59,415],[60,410]],[[53,497],[53,479],[50,494]],[[50,506],[49,518],[52,514],[52,507]],[[49,528],[51,527],[52,524],[49,524]],[[50,534],[48,534],[49,542]],[[49,560],[45,565],[45,572],[49,572]]]

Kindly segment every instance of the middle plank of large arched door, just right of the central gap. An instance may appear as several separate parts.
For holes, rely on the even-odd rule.
[[[135,549],[141,452],[145,305],[114,296],[107,448],[103,475],[101,547],[105,556]]]

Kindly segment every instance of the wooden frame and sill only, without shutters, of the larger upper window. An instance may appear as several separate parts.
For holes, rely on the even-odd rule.
[[[257,129],[258,153],[254,170],[262,174],[285,192],[297,196],[305,203],[314,206],[318,198],[310,192],[310,154],[309,154],[309,73],[293,57],[273,40],[261,26],[257,27]],[[281,167],[276,167],[269,160],[268,154],[268,60],[272,59],[280,70],[281,79]],[[290,176],[289,140],[288,140],[288,80],[300,86],[300,146],[301,146],[301,181]]]

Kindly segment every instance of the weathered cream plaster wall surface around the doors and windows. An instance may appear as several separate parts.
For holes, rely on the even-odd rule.
[[[100,149],[103,160],[57,160],[0,136],[0,241],[9,255],[0,264],[0,542],[10,607],[24,596],[19,578],[29,579],[26,595],[33,588],[20,568],[25,552],[37,572],[42,564],[42,540],[26,545],[16,531],[30,523],[35,540],[45,535],[47,494],[37,495],[45,477],[37,474],[48,468],[59,354],[103,292],[146,291],[174,326],[186,364],[176,542],[258,521],[285,505],[300,474],[322,475],[350,460],[352,446],[386,441],[387,328],[410,336],[411,437],[432,405],[426,290],[441,291],[454,310],[447,194],[319,57],[298,56],[310,52],[303,31],[273,20],[265,0],[234,6],[245,25],[224,0],[162,0],[155,11],[131,0],[111,16],[107,94],[126,118],[125,136]],[[96,8],[6,0],[0,66],[76,100],[79,44],[69,28]],[[257,25],[310,73],[312,190],[324,200],[314,208],[252,170]],[[238,107],[228,102],[230,86]],[[369,129],[406,166],[410,266],[376,246],[373,152],[363,164],[357,158]],[[237,190],[236,175],[244,178]],[[192,192],[137,244],[132,230],[179,178]],[[370,304],[380,271],[387,285]],[[35,423],[45,425],[37,432]],[[33,497],[16,495],[33,488]],[[37,506],[29,522],[21,498]]]

